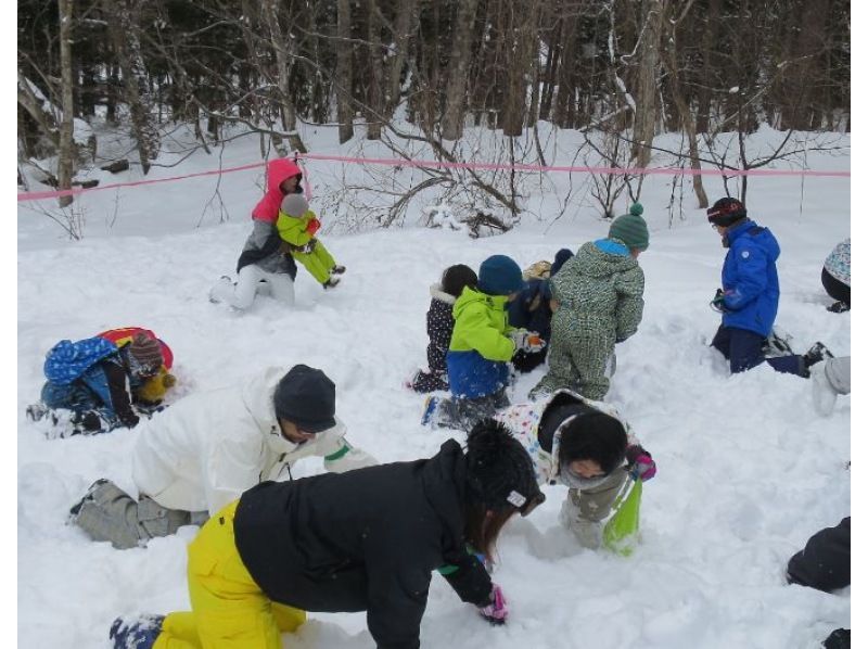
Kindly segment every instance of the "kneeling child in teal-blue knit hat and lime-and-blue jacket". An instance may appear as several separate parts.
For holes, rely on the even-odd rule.
[[[455,329],[446,354],[452,398],[430,396],[422,424],[470,430],[509,405],[509,366],[518,351],[538,352],[536,332],[507,323],[506,307],[524,288],[519,265],[493,255],[480,266],[476,287],[465,287],[452,307]]]

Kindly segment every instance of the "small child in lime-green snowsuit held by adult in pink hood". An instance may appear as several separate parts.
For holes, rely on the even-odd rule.
[[[346,270],[335,263],[322,242],[316,238],[319,219],[302,194],[288,194],[280,204],[277,229],[292,257],[307,268],[323,289],[337,285]]]

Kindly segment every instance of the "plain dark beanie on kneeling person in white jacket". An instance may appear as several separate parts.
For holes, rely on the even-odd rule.
[[[306,433],[333,428],[334,383],[322,370],[296,365],[275,390],[275,412]]]

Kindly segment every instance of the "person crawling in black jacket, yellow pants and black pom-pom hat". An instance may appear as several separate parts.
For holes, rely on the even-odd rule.
[[[306,611],[367,611],[378,647],[417,648],[434,570],[502,624],[506,601],[484,561],[507,521],[544,500],[524,448],[492,421],[465,451],[448,440],[431,459],[260,483],[190,545],[192,613],[118,618],[110,637],[116,648],[278,649]]]

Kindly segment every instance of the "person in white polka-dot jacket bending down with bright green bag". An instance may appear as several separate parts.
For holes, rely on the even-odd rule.
[[[564,484],[570,491],[561,522],[578,542],[597,548],[627,478],[650,480],[656,473],[651,454],[629,425],[602,402],[570,390],[512,406],[495,417],[512,432],[534,461],[539,484]]]

